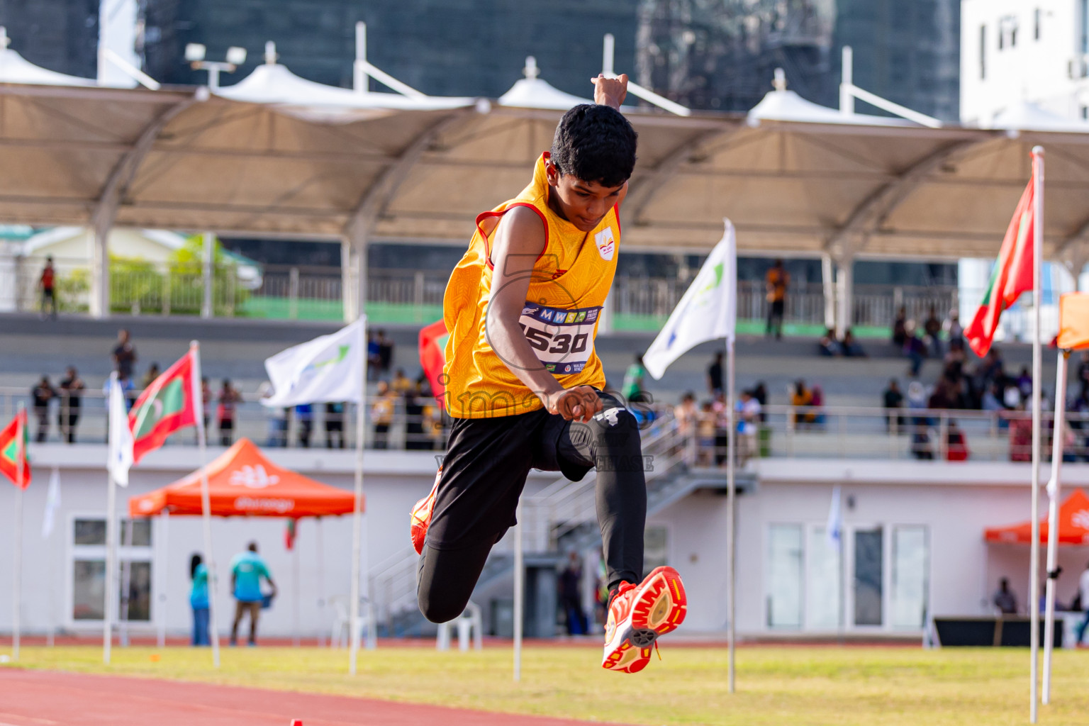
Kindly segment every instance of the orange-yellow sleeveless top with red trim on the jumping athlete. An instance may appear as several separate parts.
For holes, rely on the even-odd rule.
[[[491,241],[502,216],[528,207],[544,223],[544,250],[531,272],[519,324],[538,359],[564,387],[603,389],[604,370],[594,349],[598,319],[616,271],[620,220],[613,207],[591,232],[582,232],[548,206],[548,152],[534,181],[514,199],[477,217],[468,250],[454,268],[442,300],[446,341],[446,410],[454,418],[513,416],[543,404],[488,343],[485,319],[491,297]]]

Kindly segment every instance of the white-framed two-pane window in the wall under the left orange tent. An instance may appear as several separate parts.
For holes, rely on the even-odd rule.
[[[118,528],[118,617],[151,619],[151,521],[122,519]],[[101,622],[106,613],[106,518],[72,521],[72,620]]]

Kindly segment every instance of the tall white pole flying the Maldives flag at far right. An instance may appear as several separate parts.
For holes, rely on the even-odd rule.
[[[1040,384],[1041,381],[1041,349],[1040,349],[1040,268],[1043,259],[1043,147],[1032,147],[1032,317],[1035,328],[1032,330],[1032,542],[1030,546],[1029,562],[1029,592],[1031,602],[1029,603],[1030,632],[1029,643],[1031,648],[1032,663],[1029,668],[1032,679],[1029,688],[1031,703],[1029,705],[1029,721],[1037,723],[1038,718],[1038,691],[1039,691],[1039,655],[1040,655]]]

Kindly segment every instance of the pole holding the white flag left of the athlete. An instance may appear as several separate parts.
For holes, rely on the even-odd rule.
[[[356,297],[357,319],[363,320],[359,325],[359,401],[355,407],[355,508],[352,513],[352,588],[351,602],[348,603],[348,630],[351,632],[351,654],[348,661],[348,673],[356,674],[356,662],[359,655],[359,599],[366,596],[360,592],[367,587],[367,578],[360,576],[360,569],[366,568],[366,556],[363,543],[363,447],[366,443],[367,434],[367,313],[365,300],[367,299],[367,229],[366,224],[356,224],[351,231],[351,243],[355,254],[358,256],[355,269],[359,276]],[[362,580],[362,581],[360,581]],[[369,589],[369,588],[368,588]],[[370,612],[369,601],[367,612]],[[375,623],[374,618],[367,622],[367,648],[375,647]]]

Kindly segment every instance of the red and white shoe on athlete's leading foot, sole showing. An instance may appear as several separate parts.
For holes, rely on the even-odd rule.
[[[643,670],[658,637],[675,630],[687,612],[684,583],[672,567],[656,568],[638,587],[621,582],[609,605],[601,667],[621,673]]]

